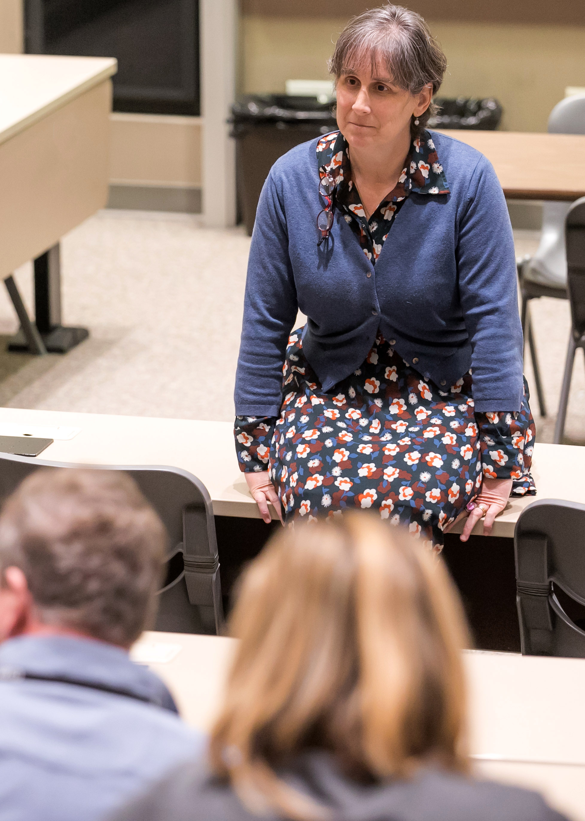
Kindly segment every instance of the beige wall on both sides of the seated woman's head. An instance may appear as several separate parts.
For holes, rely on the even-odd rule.
[[[510,0],[513,2],[513,0]],[[346,18],[244,15],[240,90],[284,91],[287,79],[327,78],[327,57]],[[546,131],[567,85],[585,85],[585,27],[430,21],[449,69],[446,96],[493,95],[508,131]]]

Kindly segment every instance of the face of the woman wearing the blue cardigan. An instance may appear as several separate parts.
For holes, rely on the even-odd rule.
[[[430,86],[430,87],[429,87]],[[432,84],[420,94],[398,88],[385,70],[350,68],[336,84],[337,125],[354,149],[382,148],[409,135],[410,121],[427,110]]]

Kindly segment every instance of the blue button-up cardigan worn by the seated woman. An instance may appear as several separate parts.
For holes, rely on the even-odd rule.
[[[473,369],[475,410],[520,410],[523,337],[504,194],[483,154],[431,134],[450,193],[410,194],[375,267],[339,209],[317,245],[317,140],[274,164],[249,253],[237,415],[280,415],[299,309],[308,317],[304,353],[325,391],[361,365],[380,328],[440,388]]]

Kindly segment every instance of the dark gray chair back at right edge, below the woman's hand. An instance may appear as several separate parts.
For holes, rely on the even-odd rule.
[[[542,499],[514,530],[523,655],[585,658],[585,505]]]

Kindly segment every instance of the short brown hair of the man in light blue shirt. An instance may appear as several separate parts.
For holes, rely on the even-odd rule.
[[[40,469],[2,507],[2,582],[20,567],[45,623],[126,647],[153,617],[166,541],[121,470]]]

